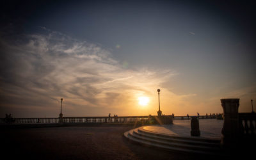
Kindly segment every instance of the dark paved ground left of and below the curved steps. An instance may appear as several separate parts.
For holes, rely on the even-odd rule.
[[[131,127],[1,129],[6,159],[209,159],[131,143]],[[215,159],[212,158],[212,159]]]

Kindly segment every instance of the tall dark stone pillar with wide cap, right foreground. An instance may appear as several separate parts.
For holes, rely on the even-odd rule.
[[[239,134],[239,99],[221,99],[221,106],[224,113],[221,143],[228,146],[236,143]]]

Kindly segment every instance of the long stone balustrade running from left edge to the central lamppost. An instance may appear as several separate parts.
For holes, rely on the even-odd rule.
[[[163,120],[172,116],[163,116]],[[156,116],[88,116],[61,118],[0,118],[0,124],[154,124]],[[165,121],[167,122],[167,121]]]

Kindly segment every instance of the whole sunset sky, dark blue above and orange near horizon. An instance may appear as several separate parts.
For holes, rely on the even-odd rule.
[[[164,115],[256,106],[252,1],[3,1],[0,13],[0,117],[58,117],[61,98],[63,116],[157,115],[158,88]]]

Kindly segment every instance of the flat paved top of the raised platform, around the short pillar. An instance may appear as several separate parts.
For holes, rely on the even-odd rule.
[[[157,132],[162,134],[170,134],[173,136],[190,136],[190,120],[174,120],[174,125],[149,125],[143,127],[143,129],[151,132]],[[205,119],[199,121],[200,138],[221,139],[221,129],[223,126],[223,120]],[[193,138],[193,137],[191,137]],[[198,137],[197,137],[198,138]]]

